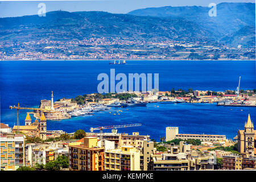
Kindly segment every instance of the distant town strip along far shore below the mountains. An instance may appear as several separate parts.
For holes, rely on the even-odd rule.
[[[255,60],[255,47],[125,38],[0,42],[0,60]]]

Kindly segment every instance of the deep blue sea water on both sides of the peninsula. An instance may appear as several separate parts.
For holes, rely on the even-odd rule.
[[[127,61],[125,65],[110,65],[109,61],[0,61],[1,122],[16,124],[16,110],[10,105],[39,106],[40,100],[74,98],[96,93],[100,73],[159,73],[159,90],[235,90],[241,76],[241,89],[255,89],[255,61]],[[128,109],[128,110],[126,110]],[[167,126],[179,127],[179,133],[224,134],[228,138],[243,129],[248,113],[255,121],[255,107],[224,107],[216,104],[159,104],[146,107],[126,107],[101,111],[62,121],[47,121],[47,130],[142,123],[142,126],[118,129],[119,133],[138,131],[159,140]],[[28,110],[22,110],[20,125]],[[111,113],[109,113],[111,112]],[[110,130],[106,130],[110,131]]]

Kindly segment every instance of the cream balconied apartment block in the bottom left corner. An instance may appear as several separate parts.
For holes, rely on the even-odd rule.
[[[0,138],[1,169],[9,171],[24,166],[24,135],[0,133]]]

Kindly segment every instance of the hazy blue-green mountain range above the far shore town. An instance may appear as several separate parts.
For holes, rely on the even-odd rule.
[[[130,40],[185,40],[255,46],[255,3],[220,3],[209,7],[156,7],[111,14],[103,11],[51,11],[46,16],[0,18],[0,40],[82,40],[121,37]]]

